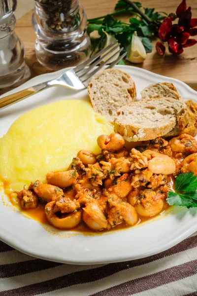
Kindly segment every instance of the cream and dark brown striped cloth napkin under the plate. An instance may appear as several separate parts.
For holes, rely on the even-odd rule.
[[[0,242],[0,296],[197,296],[197,232],[144,259],[68,265]]]

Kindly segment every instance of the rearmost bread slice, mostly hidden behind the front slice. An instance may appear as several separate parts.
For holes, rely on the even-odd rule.
[[[161,97],[181,100],[181,96],[177,92],[176,87],[170,82],[150,84],[141,91],[141,96],[142,100],[156,99]]]

